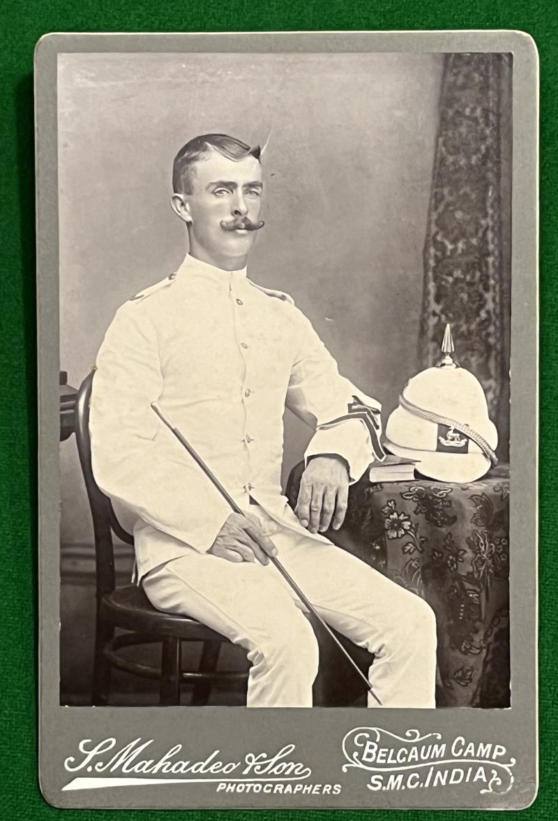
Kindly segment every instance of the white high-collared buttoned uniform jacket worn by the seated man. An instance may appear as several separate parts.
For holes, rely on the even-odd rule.
[[[281,495],[285,406],[316,429],[307,459],[339,454],[355,481],[383,456],[381,406],[339,375],[290,297],[188,255],[117,310],[93,380],[94,476],[138,516],[140,577],[191,548],[207,551],[231,513],[153,401],[242,509],[251,496],[295,530]]]

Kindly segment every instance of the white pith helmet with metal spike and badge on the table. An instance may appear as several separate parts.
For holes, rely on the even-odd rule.
[[[405,385],[387,420],[386,447],[417,460],[416,469],[431,479],[473,482],[496,465],[498,432],[481,383],[451,356],[449,325],[441,351],[445,355],[436,367]]]

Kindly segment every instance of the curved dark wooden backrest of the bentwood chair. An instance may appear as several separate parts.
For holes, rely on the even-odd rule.
[[[98,487],[91,467],[91,439],[89,437],[89,400],[93,386],[94,371],[85,377],[75,397],[75,441],[80,455],[80,464],[95,538],[95,564],[97,568],[97,596],[112,592],[114,580],[114,549],[112,533],[126,544],[134,544],[134,537],[124,530],[112,507],[111,500]]]

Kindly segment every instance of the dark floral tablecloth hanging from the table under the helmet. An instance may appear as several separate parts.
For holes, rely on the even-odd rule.
[[[286,488],[293,507],[301,474]],[[432,606],[438,707],[510,706],[509,493],[505,466],[470,484],[361,479],[327,533]]]

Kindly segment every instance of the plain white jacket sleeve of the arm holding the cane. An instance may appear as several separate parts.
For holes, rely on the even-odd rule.
[[[98,352],[93,379],[94,477],[107,496],[204,553],[231,510],[213,485],[201,480],[199,467],[179,443],[162,447],[173,434],[151,408],[161,393],[155,329],[123,305]]]

